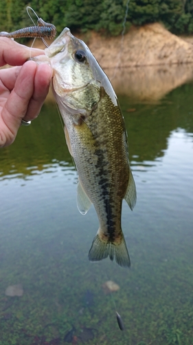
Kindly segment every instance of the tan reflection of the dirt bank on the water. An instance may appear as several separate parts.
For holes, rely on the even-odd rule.
[[[157,103],[168,92],[192,81],[193,64],[106,69],[105,72],[119,95],[138,102]]]

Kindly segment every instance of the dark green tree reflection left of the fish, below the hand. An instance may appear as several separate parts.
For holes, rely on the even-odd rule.
[[[1,149],[0,172],[9,175],[13,170],[13,173],[21,173],[25,177],[31,173],[28,167],[36,166],[41,171],[54,159],[72,165],[56,104],[49,103],[43,106],[41,115],[31,126],[21,126],[14,144]]]

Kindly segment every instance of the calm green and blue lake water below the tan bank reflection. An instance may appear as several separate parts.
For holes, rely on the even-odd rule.
[[[89,262],[98,219],[94,208],[78,213],[76,170],[46,103],[0,152],[1,345],[65,344],[72,327],[73,344],[192,344],[193,84],[153,102],[117,93],[137,185],[133,213],[126,202],[122,213],[131,268]],[[108,279],[120,285],[124,332],[102,288]],[[5,296],[14,284],[22,297]]]

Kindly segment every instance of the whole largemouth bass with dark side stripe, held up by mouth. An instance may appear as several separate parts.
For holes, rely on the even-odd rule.
[[[34,61],[47,61],[53,69],[52,89],[78,171],[78,210],[85,215],[93,204],[98,215],[100,226],[89,260],[115,257],[117,264],[129,267],[121,226],[122,200],[133,210],[136,189],[124,119],[113,87],[87,45],[69,28],[45,49],[45,56]]]

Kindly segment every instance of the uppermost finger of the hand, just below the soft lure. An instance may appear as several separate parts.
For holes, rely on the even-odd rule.
[[[0,66],[21,66],[30,57],[45,54],[44,50],[28,48],[7,37],[0,37]]]

